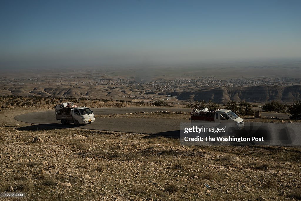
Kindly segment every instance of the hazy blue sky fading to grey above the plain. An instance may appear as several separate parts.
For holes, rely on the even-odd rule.
[[[300,59],[301,1],[0,3],[0,69]]]

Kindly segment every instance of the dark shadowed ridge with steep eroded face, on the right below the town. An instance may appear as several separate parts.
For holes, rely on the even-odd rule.
[[[252,86],[252,87],[216,87],[185,90],[169,90],[161,95],[176,96],[179,100],[213,100],[227,103],[232,100],[241,102],[268,102],[278,100],[281,103],[292,103],[301,98],[301,85],[293,86]]]

